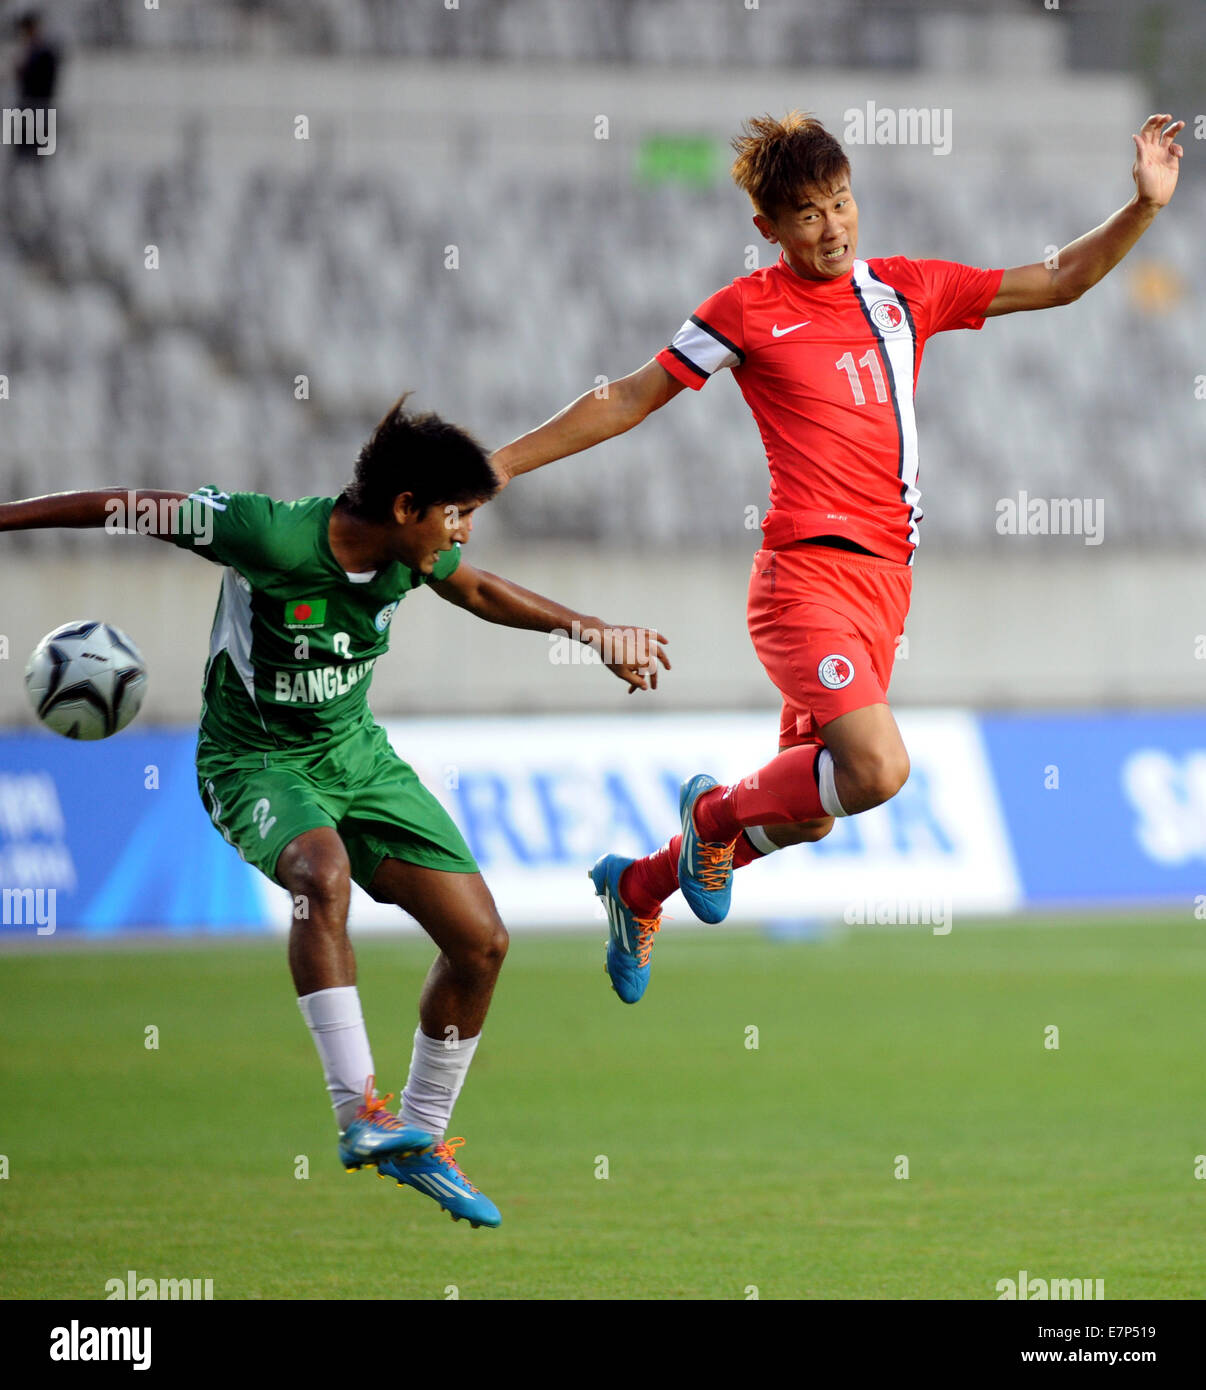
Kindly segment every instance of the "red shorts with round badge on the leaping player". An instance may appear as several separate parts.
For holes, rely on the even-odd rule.
[[[779,746],[820,742],[852,709],[884,705],[904,630],[913,570],[825,545],[759,550],[749,631],[784,696]]]

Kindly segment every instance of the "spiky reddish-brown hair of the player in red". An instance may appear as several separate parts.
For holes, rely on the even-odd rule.
[[[788,111],[782,121],[773,115],[746,121],[732,147],[732,179],[766,217],[795,206],[804,189],[828,193],[850,177],[842,146],[800,111]]]

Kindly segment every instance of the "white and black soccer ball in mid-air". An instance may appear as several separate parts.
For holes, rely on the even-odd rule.
[[[25,667],[33,712],[65,738],[108,738],[133,719],[146,694],[142,652],[110,623],[64,623]]]

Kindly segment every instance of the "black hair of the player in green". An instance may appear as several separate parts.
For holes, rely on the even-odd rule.
[[[413,414],[403,393],[360,450],[340,503],[361,521],[389,521],[393,500],[408,492],[420,514],[432,506],[488,502],[499,481],[485,449],[467,431],[427,411]]]

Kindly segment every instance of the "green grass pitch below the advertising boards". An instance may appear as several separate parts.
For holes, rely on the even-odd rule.
[[[520,937],[453,1122],[497,1232],[339,1168],[282,942],[7,954],[0,1295],[1202,1298],[1200,933],[671,923],[636,1006],[600,941]],[[431,954],[358,945],[383,1088]]]

